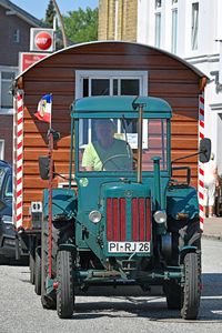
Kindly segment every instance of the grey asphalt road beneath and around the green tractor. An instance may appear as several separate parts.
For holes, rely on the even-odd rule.
[[[29,283],[29,268],[0,266],[0,333],[69,332],[222,332],[222,241],[203,240],[203,292],[196,321],[183,321],[179,311],[167,310],[161,295],[125,295],[91,292],[77,296],[72,320],[60,320],[43,310]],[[103,290],[104,291],[104,290]],[[110,295],[109,295],[110,293]]]

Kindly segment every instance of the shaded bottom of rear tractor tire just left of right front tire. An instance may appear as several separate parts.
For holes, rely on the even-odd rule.
[[[181,310],[182,306],[182,289],[176,281],[167,281],[163,286],[168,309]]]

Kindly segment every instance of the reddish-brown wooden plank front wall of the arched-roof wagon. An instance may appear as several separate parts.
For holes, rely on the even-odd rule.
[[[172,107],[172,159],[198,149],[198,112],[200,77],[179,60],[155,49],[131,43],[89,43],[44,59],[22,75],[24,90],[24,176],[23,214],[29,215],[31,201],[42,199],[47,181],[39,176],[38,158],[47,154],[48,124],[33,113],[42,94],[53,94],[52,127],[61,140],[54,150],[56,171],[67,174],[70,147],[70,105],[75,91],[75,70],[145,70],[149,95],[165,99]],[[198,158],[178,163],[190,165],[192,184],[196,184]],[[57,185],[54,181],[54,185]]]

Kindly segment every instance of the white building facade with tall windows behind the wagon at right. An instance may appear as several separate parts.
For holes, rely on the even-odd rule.
[[[185,59],[210,79],[205,88],[205,137],[212,140],[212,152],[215,153],[220,175],[222,174],[221,18],[221,0],[138,0],[138,42]]]

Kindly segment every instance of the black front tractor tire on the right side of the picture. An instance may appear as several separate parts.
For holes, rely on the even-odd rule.
[[[192,252],[184,256],[185,283],[183,287],[183,305],[181,316],[184,320],[198,317],[201,297],[201,262],[200,255]]]

